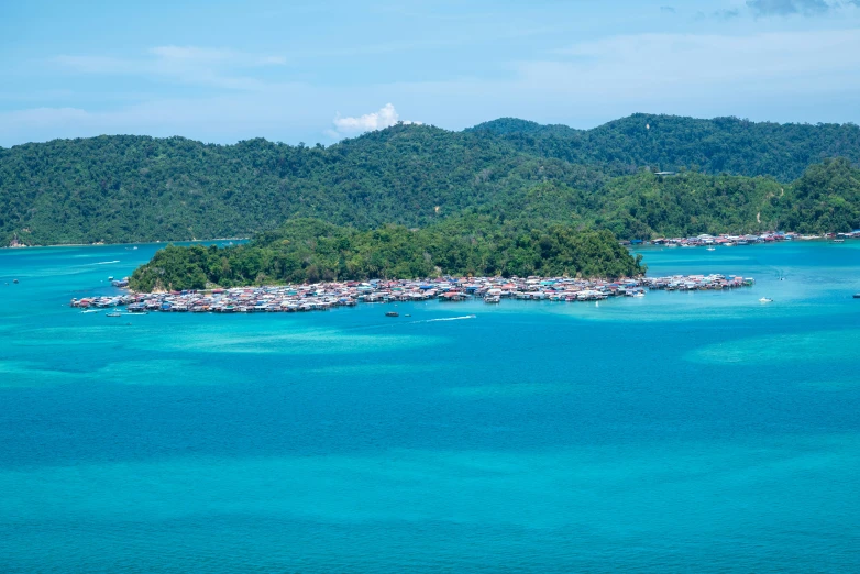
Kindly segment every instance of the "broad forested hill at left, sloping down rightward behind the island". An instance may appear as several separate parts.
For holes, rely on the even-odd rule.
[[[101,136],[0,152],[0,240],[32,244],[249,235],[290,217],[425,225],[543,179],[597,189],[599,169],[504,142],[399,125],[330,147]]]

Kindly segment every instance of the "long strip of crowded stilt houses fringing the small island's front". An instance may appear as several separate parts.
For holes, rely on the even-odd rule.
[[[309,285],[238,287],[156,294],[123,294],[73,299],[71,307],[86,311],[125,307],[129,313],[161,312],[296,312],[360,302],[465,301],[498,303],[503,299],[548,301],[597,301],[609,297],[643,297],[647,289],[703,290],[750,286],[739,276],[677,275],[636,277],[617,282],[570,277],[440,277],[431,280],[334,282]]]

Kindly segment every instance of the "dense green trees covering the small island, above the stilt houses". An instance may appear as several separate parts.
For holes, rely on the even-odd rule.
[[[417,230],[386,225],[357,231],[298,219],[244,245],[170,245],[134,271],[131,287],[152,291],[439,274],[620,277],[641,273],[641,256],[633,258],[605,230],[498,225],[475,216]]]

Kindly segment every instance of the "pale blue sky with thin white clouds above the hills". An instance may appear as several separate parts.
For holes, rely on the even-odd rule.
[[[860,0],[3,1],[0,75],[0,146],[639,111],[860,123]]]

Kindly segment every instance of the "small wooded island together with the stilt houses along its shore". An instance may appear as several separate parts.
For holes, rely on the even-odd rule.
[[[316,219],[288,221],[242,245],[158,251],[128,279],[131,294],[74,299],[73,307],[128,306],[131,313],[296,312],[360,302],[479,299],[599,301],[647,289],[750,286],[739,276],[646,277],[609,231],[461,218],[425,229],[360,231]]]

